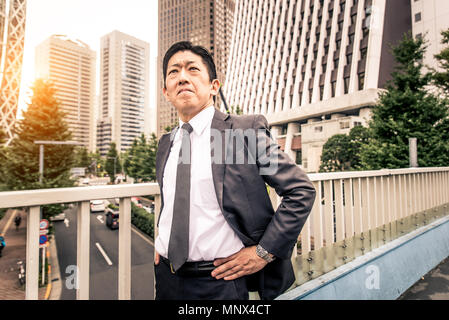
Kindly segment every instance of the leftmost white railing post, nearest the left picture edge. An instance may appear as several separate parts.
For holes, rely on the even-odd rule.
[[[40,207],[30,207],[27,218],[26,300],[39,299],[39,219]]]

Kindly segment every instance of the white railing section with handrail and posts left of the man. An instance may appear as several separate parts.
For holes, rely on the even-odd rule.
[[[27,207],[26,288],[27,300],[38,299],[40,206],[78,203],[77,212],[77,291],[79,300],[89,299],[90,200],[119,198],[118,297],[131,299],[131,197],[155,196],[155,212],[160,208],[157,183],[121,184],[60,189],[0,192],[0,208]]]

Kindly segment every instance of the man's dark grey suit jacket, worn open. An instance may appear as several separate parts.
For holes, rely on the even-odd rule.
[[[252,151],[248,148],[246,139],[243,141],[246,151],[244,164],[225,161],[225,152],[222,152],[223,161],[212,162],[215,193],[226,221],[245,246],[260,244],[277,258],[261,271],[247,277],[250,291],[257,290],[261,299],[274,299],[294,282],[290,258],[298,235],[312,209],[315,189],[306,174],[273,142],[264,116],[227,115],[215,110],[212,129],[222,133],[221,145],[225,146],[227,152],[237,144],[235,141],[234,144],[230,143],[230,140],[239,139],[229,135],[230,132],[237,132],[236,129],[258,130],[262,132],[257,139],[258,148],[266,148],[267,153],[277,159],[277,170],[274,174],[261,173],[266,162],[259,161],[262,157],[259,150],[252,154],[257,161],[249,161],[251,156],[248,155]],[[174,132],[161,137],[156,156],[156,176],[161,193],[164,168],[172,145],[171,137],[174,137]],[[211,153],[214,153],[213,148],[211,149]],[[265,183],[282,197],[276,212]],[[162,212],[163,196],[161,198]]]

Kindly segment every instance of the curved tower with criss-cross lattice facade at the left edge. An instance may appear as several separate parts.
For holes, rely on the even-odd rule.
[[[0,0],[0,129],[13,138],[25,42],[26,0]]]

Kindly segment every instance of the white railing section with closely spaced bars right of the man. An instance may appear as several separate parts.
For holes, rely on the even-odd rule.
[[[449,214],[449,167],[308,176],[317,194],[292,257],[296,285]]]

